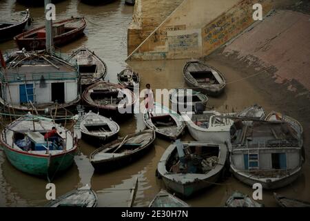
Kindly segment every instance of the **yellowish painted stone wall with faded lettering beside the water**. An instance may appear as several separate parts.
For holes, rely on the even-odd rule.
[[[270,2],[185,0],[127,60],[189,59],[209,55],[254,23],[254,3],[261,3],[266,15],[271,10]]]

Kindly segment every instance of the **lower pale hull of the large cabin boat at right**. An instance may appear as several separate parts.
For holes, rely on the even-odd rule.
[[[283,178],[278,178],[273,182],[265,182],[264,180],[258,180],[247,177],[246,175],[242,175],[242,173],[238,173],[233,167],[230,167],[230,169],[234,177],[236,177],[240,182],[243,182],[249,186],[253,186],[253,184],[260,183],[262,184],[262,189],[278,189],[283,186],[287,186],[288,184],[291,184],[291,182],[295,181],[301,173],[300,168],[298,169],[298,171],[295,171],[292,175]]]

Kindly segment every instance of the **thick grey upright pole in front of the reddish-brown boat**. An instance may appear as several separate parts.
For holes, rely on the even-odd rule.
[[[52,17],[50,17],[50,7],[51,0],[44,0],[45,6],[45,48],[46,51],[52,55],[54,51],[54,41],[53,41],[53,29],[52,29]],[[53,12],[52,12],[53,13]]]

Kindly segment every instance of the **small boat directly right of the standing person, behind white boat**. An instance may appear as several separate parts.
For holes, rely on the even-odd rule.
[[[196,104],[203,104],[205,107],[208,102],[207,95],[191,89],[176,89],[169,94],[172,109],[178,110],[179,113],[194,111]]]

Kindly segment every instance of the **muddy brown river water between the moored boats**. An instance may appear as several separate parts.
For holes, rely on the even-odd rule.
[[[10,16],[10,12],[25,10],[13,0],[0,2],[0,17]],[[130,66],[141,76],[141,86],[146,83],[156,88],[184,88],[182,70],[185,60],[175,61],[131,61],[126,64],[127,57],[127,26],[132,19],[132,6],[125,6],[124,1],[115,1],[106,6],[87,6],[76,0],[63,1],[56,4],[56,19],[65,19],[73,16],[84,16],[87,19],[85,36],[67,46],[62,47],[61,52],[85,46],[94,50],[107,64],[107,77],[116,83],[116,73]],[[32,26],[44,24],[43,8],[30,8],[34,19]],[[0,44],[2,51],[17,49],[14,41]],[[219,98],[209,98],[208,106],[220,112],[240,111],[242,108],[257,103],[265,107],[266,111],[272,111],[273,106],[267,102],[266,97],[260,95],[260,91],[253,89],[248,81],[238,81],[240,73],[229,66],[223,66],[218,61],[209,60],[209,64],[222,71],[227,81],[225,93]],[[235,83],[234,83],[235,82]],[[280,111],[280,110],[275,110]],[[125,122],[119,122],[121,126],[120,136],[133,133],[145,128],[140,114],[133,115]],[[307,131],[305,131],[307,135]],[[192,140],[185,133],[182,140]],[[163,182],[155,176],[156,166],[161,155],[170,142],[156,138],[151,150],[141,160],[105,174],[96,174],[89,162],[89,155],[96,148],[80,143],[80,154],[75,157],[75,164],[65,173],[56,177],[56,195],[63,195],[72,189],[85,184],[90,184],[96,191],[98,206],[127,206],[130,199],[130,189],[134,180],[138,177],[138,191],[134,206],[147,206],[160,189],[165,189]],[[301,200],[310,200],[310,166],[305,164],[302,175],[291,185],[277,190],[278,193]],[[32,177],[14,169],[0,149],[0,206],[42,206],[45,200],[46,180]],[[233,191],[242,191],[251,195],[253,190],[238,182],[234,177],[227,177],[224,182],[211,186],[189,200],[185,200],[191,206],[223,206]],[[276,206],[272,197],[273,191],[263,191],[263,200],[260,203],[265,206]]]

